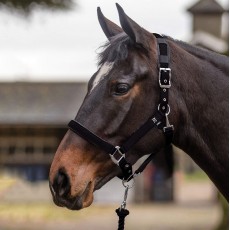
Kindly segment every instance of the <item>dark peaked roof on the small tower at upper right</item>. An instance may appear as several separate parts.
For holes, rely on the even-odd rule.
[[[188,8],[192,14],[222,14],[226,10],[215,0],[200,0]]]

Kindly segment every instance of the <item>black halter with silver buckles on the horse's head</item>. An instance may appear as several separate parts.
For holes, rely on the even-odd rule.
[[[168,115],[170,113],[170,106],[168,104],[168,91],[171,87],[169,47],[165,38],[162,35],[153,35],[157,39],[160,87],[159,104],[154,116],[147,120],[134,133],[132,133],[121,146],[114,146],[110,144],[109,142],[98,137],[96,134],[94,134],[75,120],[71,120],[68,124],[69,129],[72,130],[74,133],[76,133],[89,143],[100,147],[102,150],[108,153],[112,161],[120,167],[123,174],[122,179],[126,181],[131,180],[135,175],[141,173],[155,155],[154,153],[152,153],[134,173],[132,172],[132,165],[127,162],[125,154],[142,137],[144,137],[153,127],[156,127],[163,131],[166,145],[170,145],[173,138],[173,125],[170,125],[168,120]]]

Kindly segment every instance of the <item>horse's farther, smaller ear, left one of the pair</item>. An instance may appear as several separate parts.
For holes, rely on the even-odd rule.
[[[104,31],[105,36],[109,40],[111,40],[113,36],[123,32],[121,27],[119,27],[118,25],[116,25],[115,23],[113,23],[112,21],[110,21],[103,15],[100,7],[97,7],[97,16],[98,16],[98,20],[101,25],[101,28]]]

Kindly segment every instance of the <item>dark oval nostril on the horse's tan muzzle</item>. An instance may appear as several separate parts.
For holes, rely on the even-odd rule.
[[[70,192],[70,182],[65,172],[58,171],[53,182],[53,189],[61,197],[68,195]]]

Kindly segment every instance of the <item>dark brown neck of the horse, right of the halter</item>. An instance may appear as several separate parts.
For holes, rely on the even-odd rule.
[[[228,62],[170,41],[171,116],[178,115],[174,144],[228,190]],[[213,55],[213,56],[212,56]],[[212,56],[212,57],[210,57]],[[222,70],[221,70],[222,69]],[[224,180],[224,182],[223,182]],[[227,186],[227,187],[226,187]],[[228,193],[228,192],[227,192]]]

